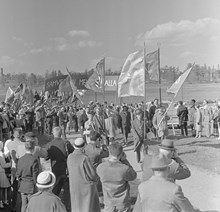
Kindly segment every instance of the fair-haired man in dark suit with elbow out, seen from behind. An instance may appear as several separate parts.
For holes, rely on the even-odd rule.
[[[68,209],[69,205],[69,180],[67,177],[67,157],[74,151],[73,146],[68,141],[61,138],[62,129],[53,128],[54,139],[46,146],[48,158],[51,160],[52,172],[56,176],[56,183],[53,187],[53,193],[59,196],[61,189],[64,189],[64,204]]]

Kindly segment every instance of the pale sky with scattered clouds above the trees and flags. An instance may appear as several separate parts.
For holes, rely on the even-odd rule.
[[[117,71],[146,45],[161,66],[220,64],[219,0],[1,0],[4,73]]]

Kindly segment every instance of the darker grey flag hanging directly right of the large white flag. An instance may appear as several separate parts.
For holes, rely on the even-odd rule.
[[[159,81],[159,50],[146,55],[146,78],[151,81]]]

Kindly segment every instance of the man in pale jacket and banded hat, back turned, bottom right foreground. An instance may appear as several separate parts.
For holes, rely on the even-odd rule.
[[[168,180],[169,160],[163,155],[152,158],[151,169],[154,175],[138,186],[138,198],[133,212],[195,212],[182,188]]]

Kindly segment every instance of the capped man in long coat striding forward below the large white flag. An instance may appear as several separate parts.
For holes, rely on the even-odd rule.
[[[137,109],[135,111],[136,118],[132,121],[132,134],[134,138],[134,151],[136,152],[137,162],[140,163],[141,161],[141,147],[145,143],[147,139],[147,130],[148,126],[147,123],[145,124],[145,131],[144,131],[144,113],[141,109]],[[145,136],[145,137],[144,137]]]

